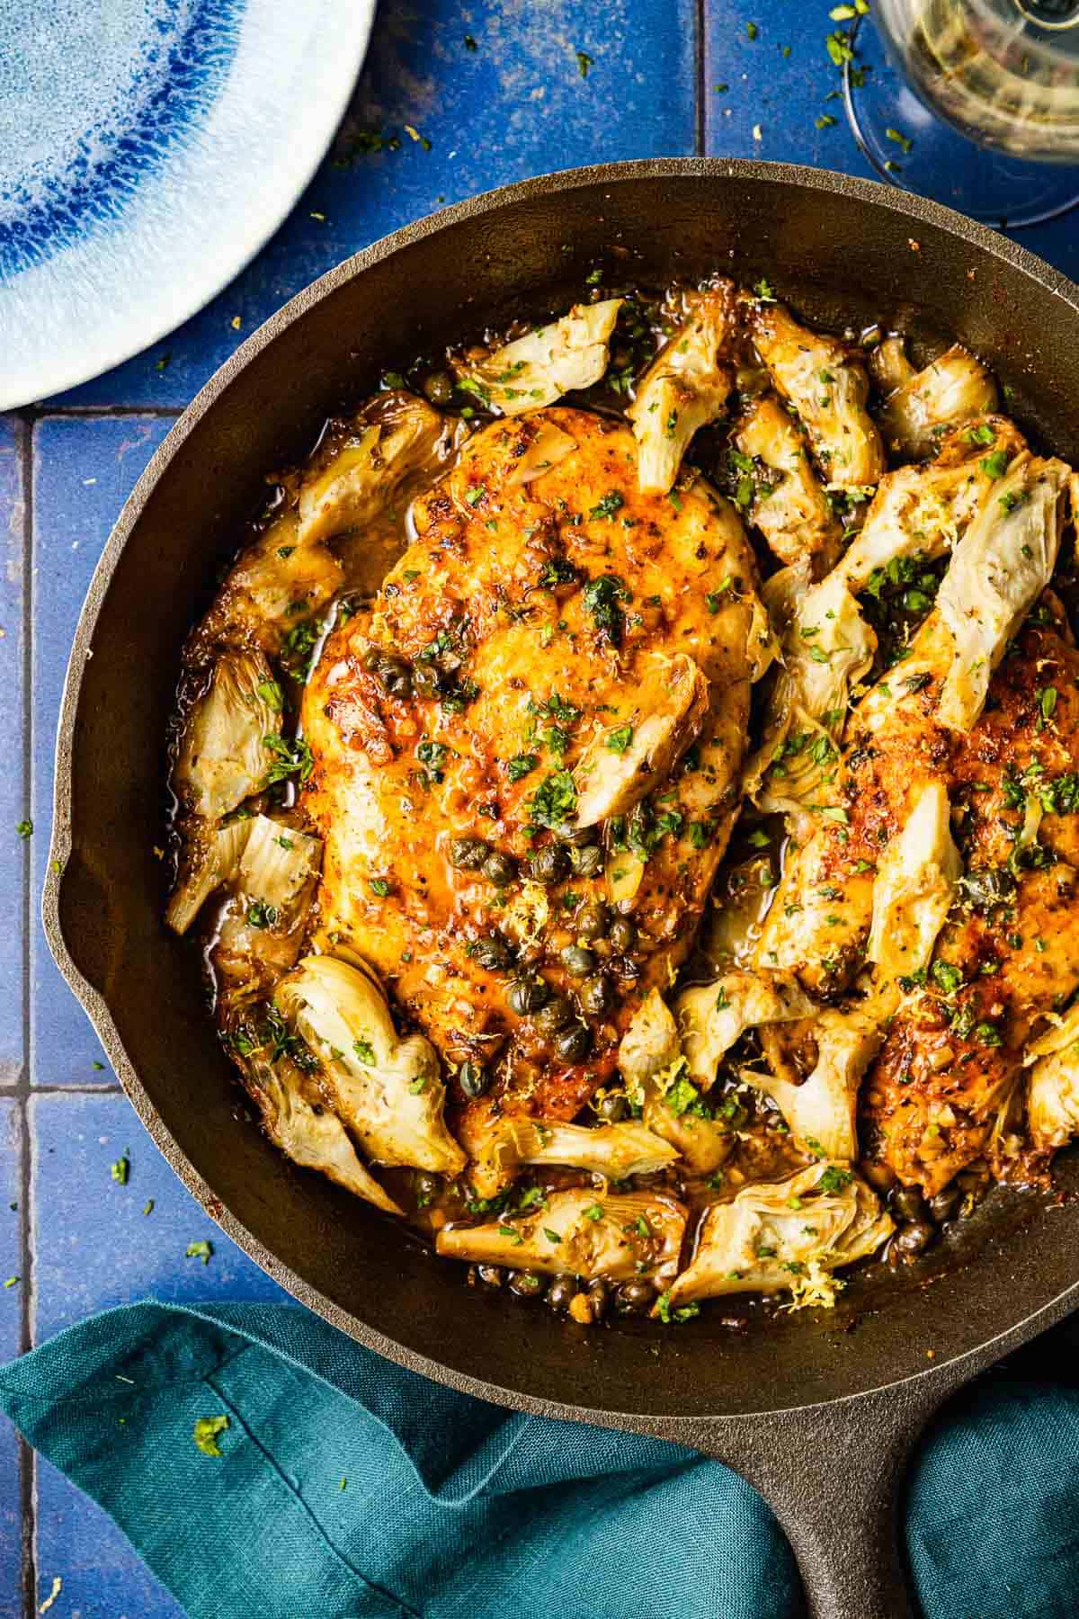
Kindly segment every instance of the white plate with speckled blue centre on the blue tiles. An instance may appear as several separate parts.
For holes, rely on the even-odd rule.
[[[277,230],[375,0],[0,0],[0,410],[202,308]]]

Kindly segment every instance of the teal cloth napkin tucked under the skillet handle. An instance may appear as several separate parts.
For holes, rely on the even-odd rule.
[[[927,1619],[1079,1613],[1079,1391],[1045,1363],[982,1379],[916,1460]],[[718,1462],[451,1394],[294,1307],[110,1310],[3,1368],[0,1405],[191,1619],[801,1613],[775,1519]]]

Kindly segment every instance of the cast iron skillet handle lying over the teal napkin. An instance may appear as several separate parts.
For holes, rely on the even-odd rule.
[[[899,1488],[914,1443],[950,1392],[925,1378],[914,1392],[901,1384],[694,1434],[775,1512],[812,1619],[916,1619],[899,1549]]]

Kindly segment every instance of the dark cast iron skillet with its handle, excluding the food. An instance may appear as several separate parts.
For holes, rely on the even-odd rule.
[[[199,984],[162,924],[162,738],[181,641],[269,468],[385,368],[487,319],[565,308],[597,264],[660,285],[762,274],[810,319],[959,337],[1079,460],[1079,288],[1001,236],[861,180],[663,160],[532,180],[377,243],[294,298],[181,416],[120,516],[74,638],[57,748],[45,931],[142,1122],[222,1227],[362,1344],[519,1410],[696,1446],[770,1501],[812,1613],[909,1613],[895,1491],[929,1413],[1076,1297],[1079,1201],[996,1193],[914,1277],[856,1282],[823,1324],[733,1334],[721,1311],[579,1332],[469,1290],[243,1120]],[[91,656],[92,654],[92,656]],[[1064,1162],[1061,1183],[1079,1179]],[[599,1619],[599,1616],[597,1616]]]

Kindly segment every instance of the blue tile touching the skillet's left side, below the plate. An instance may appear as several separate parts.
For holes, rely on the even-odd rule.
[[[31,724],[36,897],[49,858],[53,740],[71,636],[116,515],[170,426],[171,421],[160,416],[47,416],[34,424]],[[60,976],[34,918],[31,1083],[107,1083],[110,1075],[94,1069],[94,1062],[104,1060],[97,1036]]]

